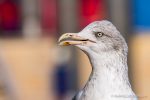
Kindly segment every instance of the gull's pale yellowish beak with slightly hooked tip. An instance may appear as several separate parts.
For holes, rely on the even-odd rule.
[[[83,45],[83,44],[87,44],[88,42],[94,42],[94,41],[78,36],[76,33],[65,33],[58,40],[58,43],[61,46]]]

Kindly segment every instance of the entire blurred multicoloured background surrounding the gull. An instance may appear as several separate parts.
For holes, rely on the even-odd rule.
[[[150,100],[150,0],[0,0],[0,100],[71,100],[91,67],[84,53],[57,46],[62,33],[107,19],[129,45],[129,76]]]

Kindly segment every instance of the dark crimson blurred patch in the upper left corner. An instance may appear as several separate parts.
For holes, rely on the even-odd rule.
[[[14,31],[19,26],[18,6],[10,1],[0,2],[0,27],[3,31]]]

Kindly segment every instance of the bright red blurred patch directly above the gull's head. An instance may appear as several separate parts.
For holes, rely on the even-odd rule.
[[[89,23],[106,18],[106,7],[104,0],[81,0],[81,28]]]

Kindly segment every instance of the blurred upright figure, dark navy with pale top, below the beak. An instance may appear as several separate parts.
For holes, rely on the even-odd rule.
[[[73,96],[73,91],[71,84],[72,73],[70,73],[70,68],[72,67],[70,62],[71,50],[70,48],[57,48],[57,64],[55,66],[54,72],[54,90],[56,91],[57,100],[71,100]]]

